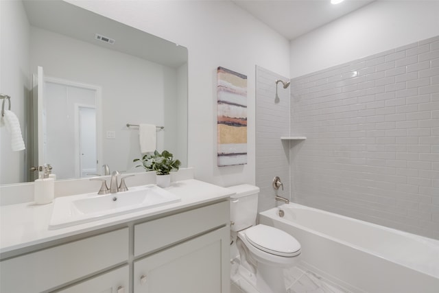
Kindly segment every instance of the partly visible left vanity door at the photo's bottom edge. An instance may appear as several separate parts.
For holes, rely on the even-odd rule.
[[[76,285],[64,288],[58,293],[129,293],[130,268],[123,266]]]

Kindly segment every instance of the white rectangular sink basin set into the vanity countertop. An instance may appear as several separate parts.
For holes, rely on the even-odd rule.
[[[179,196],[156,185],[131,187],[128,191],[102,196],[95,193],[63,196],[54,200],[49,229],[92,222],[178,201]]]

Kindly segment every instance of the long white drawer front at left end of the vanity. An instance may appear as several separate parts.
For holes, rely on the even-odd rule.
[[[128,260],[128,228],[1,261],[1,292],[41,292]]]

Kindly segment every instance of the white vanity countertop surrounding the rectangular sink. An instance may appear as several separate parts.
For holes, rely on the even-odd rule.
[[[192,207],[197,204],[213,202],[228,198],[233,194],[233,191],[224,187],[195,179],[176,181],[166,189],[180,196],[180,202],[56,230],[49,230],[48,228],[53,203],[36,205],[34,202],[26,202],[2,206],[0,207],[0,255],[8,254],[20,248],[62,239],[63,237],[95,231],[161,213]]]

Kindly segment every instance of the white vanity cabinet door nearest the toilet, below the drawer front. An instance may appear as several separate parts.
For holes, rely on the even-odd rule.
[[[134,262],[134,293],[230,292],[230,229],[220,228]]]

